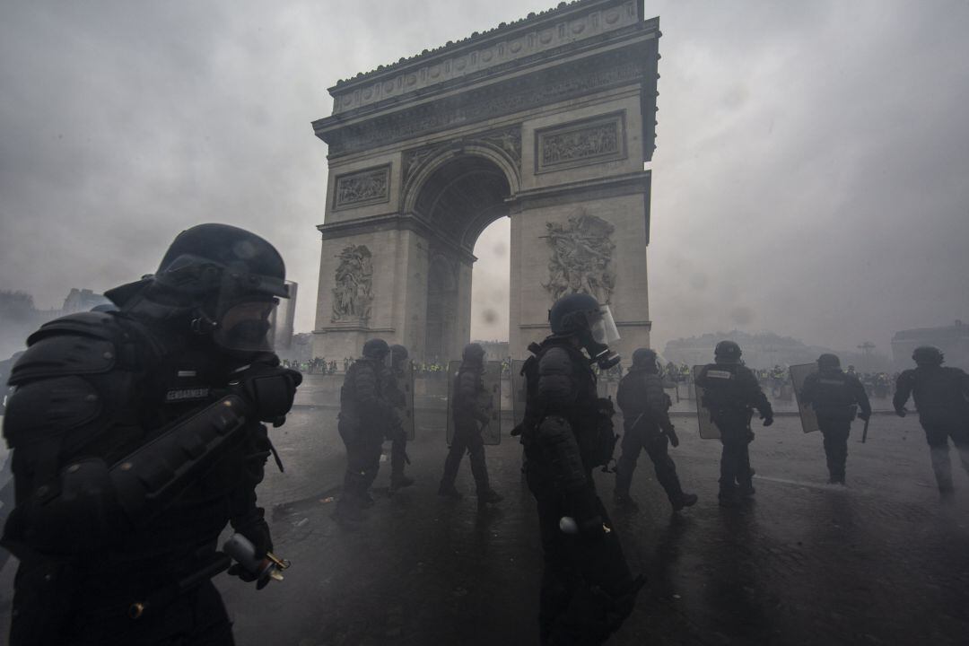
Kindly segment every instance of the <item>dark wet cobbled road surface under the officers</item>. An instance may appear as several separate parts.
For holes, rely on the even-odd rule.
[[[953,459],[958,497],[940,507],[917,418],[876,415],[865,445],[856,424],[847,487],[826,483],[821,437],[797,417],[755,426],[757,496],[739,510],[716,504],[719,443],[697,437],[696,417],[674,420],[677,468],[701,500],[672,515],[641,456],[642,509],[614,521],[649,584],[610,644],[967,643],[969,478]],[[488,447],[506,501],[479,513],[472,496],[436,496],[443,423],[419,413],[418,483],[389,498],[385,463],[359,533],[329,518],[343,469],[335,411],[300,407],[273,431],[287,470],[270,463],[261,503],[294,566],[261,592],[218,577],[240,646],[537,643],[541,551],[520,446],[506,435]],[[610,507],[611,477],[597,482]],[[473,493],[466,461],[458,487]],[[0,571],[4,624],[12,578]]]

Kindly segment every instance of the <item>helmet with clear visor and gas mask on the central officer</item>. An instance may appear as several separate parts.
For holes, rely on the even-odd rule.
[[[600,305],[587,293],[570,293],[556,300],[548,310],[552,334],[576,336],[585,352],[603,370],[619,363],[618,354],[609,344],[619,340],[619,330],[612,319],[609,305]]]

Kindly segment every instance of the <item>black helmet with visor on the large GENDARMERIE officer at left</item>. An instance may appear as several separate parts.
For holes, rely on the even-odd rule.
[[[271,352],[268,331],[278,299],[290,297],[279,252],[229,225],[182,231],[146,280],[155,299],[191,311],[193,331],[241,353]]]

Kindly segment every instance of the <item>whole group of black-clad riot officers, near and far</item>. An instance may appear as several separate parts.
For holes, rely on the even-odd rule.
[[[284,279],[265,239],[200,225],[175,238],[155,274],[106,292],[116,310],[64,317],[28,338],[11,371],[3,427],[16,507],[2,542],[20,561],[12,646],[234,643],[211,576],[228,569],[262,588],[287,567],[272,552],[255,493],[267,459],[279,462],[266,424],[285,422],[301,382],[267,342],[273,309],[289,296]],[[628,568],[592,478],[619,440],[593,369],[618,364],[610,349],[618,334],[609,307],[587,294],[560,298],[548,318],[551,334],[528,348],[524,418],[513,432],[545,555],[540,635],[543,644],[599,644],[632,612],[644,582]],[[413,484],[401,417],[406,358],[404,348],[372,339],[347,370],[338,423],[347,470],[335,516],[348,526],[373,504],[368,490],[386,439],[391,490]],[[969,470],[967,378],[942,367],[938,351],[915,358],[918,367],[899,377],[895,409],[905,415],[914,393],[940,491],[951,496],[950,438]],[[460,495],[454,478],[467,452],[487,506],[501,496],[485,466],[484,352],[471,344],[462,359],[438,493]],[[656,354],[640,349],[617,392],[621,508],[635,508],[630,483],[643,449],[674,510],[697,502],[669,456],[678,439],[658,372]],[[720,501],[735,506],[754,493],[753,411],[769,425],[770,404],[729,341],[697,384],[723,443]],[[831,479],[843,482],[849,409],[870,415],[863,388],[826,355],[802,395],[825,434]],[[227,524],[235,534],[219,551]]]

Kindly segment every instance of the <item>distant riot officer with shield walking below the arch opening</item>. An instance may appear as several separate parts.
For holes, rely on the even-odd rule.
[[[490,421],[485,411],[483,398],[487,396],[482,374],[485,372],[485,349],[477,343],[469,343],[461,354],[461,366],[451,388],[453,397],[454,436],[448,457],[444,461],[444,476],[438,495],[460,498],[454,487],[457,468],[461,465],[464,451],[468,452],[471,474],[475,477],[479,507],[489,503],[500,503],[502,496],[494,491],[487,477],[485,464],[485,441],[482,430]]]

